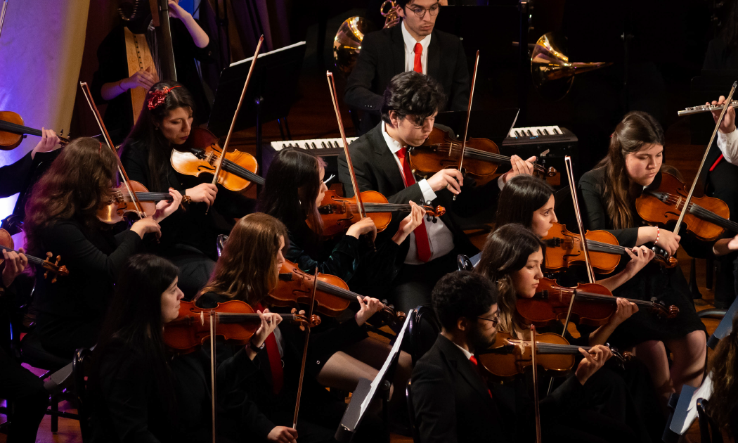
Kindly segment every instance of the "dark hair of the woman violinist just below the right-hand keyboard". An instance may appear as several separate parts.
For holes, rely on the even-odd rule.
[[[520,223],[528,229],[533,222],[533,214],[554,195],[554,188],[542,179],[529,175],[517,175],[509,179],[497,202],[497,227],[510,223]]]

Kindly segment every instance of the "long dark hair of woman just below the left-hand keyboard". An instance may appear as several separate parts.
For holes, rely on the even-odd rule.
[[[264,178],[259,210],[282,221],[293,233],[307,220],[320,236],[323,220],[315,202],[320,193],[320,168],[325,168],[325,161],[303,149],[280,151]]]

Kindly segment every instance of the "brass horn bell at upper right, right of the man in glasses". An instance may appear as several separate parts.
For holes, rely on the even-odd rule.
[[[556,41],[553,32],[541,36],[536,42],[531,55],[531,78],[538,92],[551,100],[564,98],[571,85],[574,75],[590,72],[595,69],[610,66],[612,62],[579,63],[570,62],[560,41]]]

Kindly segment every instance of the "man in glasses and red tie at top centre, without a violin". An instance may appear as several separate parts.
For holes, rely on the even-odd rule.
[[[379,123],[382,93],[400,72],[415,71],[438,80],[446,94],[443,108],[466,111],[469,69],[461,40],[434,30],[441,10],[438,0],[397,0],[400,24],[365,35],[344,101],[365,111],[359,134]]]

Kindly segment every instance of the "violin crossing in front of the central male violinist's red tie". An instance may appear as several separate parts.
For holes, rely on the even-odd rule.
[[[387,197],[374,190],[365,190],[361,193],[364,210],[367,216],[374,221],[376,231],[382,232],[392,221],[393,212],[410,212],[413,207],[387,202]],[[446,213],[443,206],[421,205],[428,216],[429,221],[435,223],[435,219]],[[352,224],[361,220],[359,208],[356,207],[354,197],[339,197],[334,190],[325,191],[323,202],[318,207],[320,218],[323,219],[323,236],[331,237],[345,232]]]

